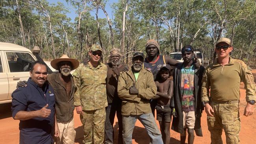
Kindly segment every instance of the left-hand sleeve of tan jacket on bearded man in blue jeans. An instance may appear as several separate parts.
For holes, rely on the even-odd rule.
[[[129,94],[129,90],[126,89],[126,82],[124,79],[124,73],[121,72],[119,79],[118,79],[118,85],[117,85],[117,93],[119,98],[124,101],[135,101],[140,102],[140,98],[137,97],[137,95],[131,95]]]

